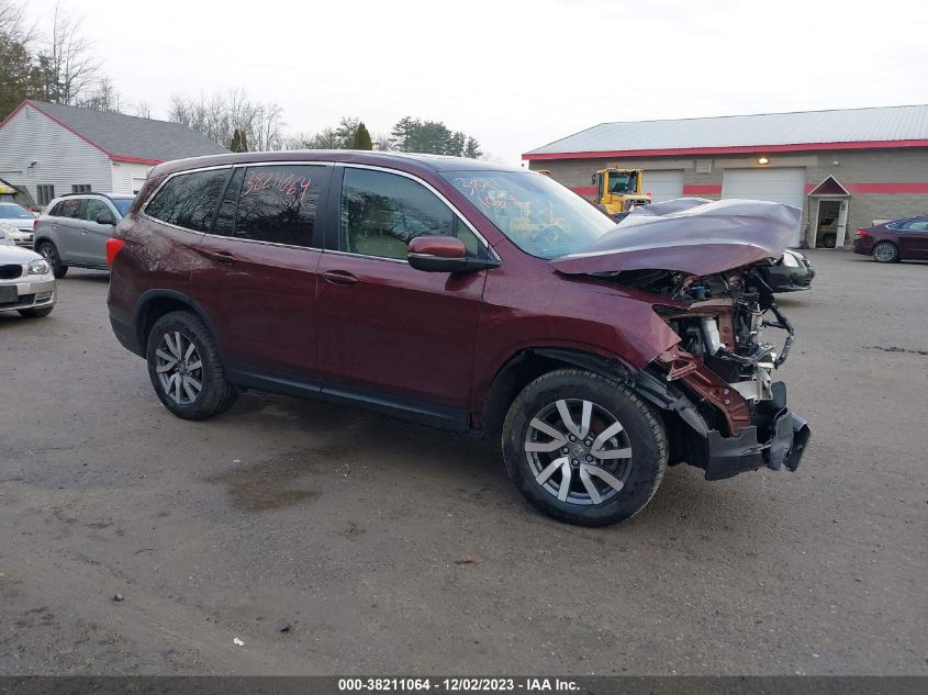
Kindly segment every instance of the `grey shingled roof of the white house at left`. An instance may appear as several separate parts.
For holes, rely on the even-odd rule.
[[[180,123],[31,99],[20,104],[16,111],[25,104],[88,141],[116,161],[160,164],[170,159],[228,152],[222,145]]]

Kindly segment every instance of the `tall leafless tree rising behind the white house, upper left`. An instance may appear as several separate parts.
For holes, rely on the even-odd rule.
[[[80,18],[62,11],[55,5],[52,35],[44,51],[38,54],[45,98],[63,104],[72,104],[87,96],[97,81],[100,63],[90,51],[90,44],[80,33]]]

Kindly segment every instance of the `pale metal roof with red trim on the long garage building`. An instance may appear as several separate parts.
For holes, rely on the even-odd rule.
[[[601,123],[524,159],[928,147],[928,104]]]

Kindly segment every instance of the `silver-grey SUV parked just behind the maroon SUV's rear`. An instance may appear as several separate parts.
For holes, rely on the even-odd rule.
[[[52,264],[56,278],[64,278],[69,266],[108,270],[107,240],[134,199],[107,193],[56,198],[35,224],[35,250]]]

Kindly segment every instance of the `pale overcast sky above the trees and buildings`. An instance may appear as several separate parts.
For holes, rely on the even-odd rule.
[[[55,0],[29,0],[51,24]],[[243,87],[288,130],[444,121],[495,158],[607,121],[928,103],[916,0],[62,0],[130,102]]]

